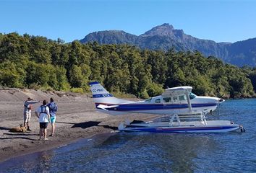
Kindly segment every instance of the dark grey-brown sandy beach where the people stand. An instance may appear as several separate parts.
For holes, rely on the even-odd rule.
[[[56,136],[48,137],[49,141],[38,141],[39,123],[34,113],[30,120],[32,132],[9,132],[10,128],[23,123],[23,102],[27,97],[39,100],[54,97],[56,100],[59,107]],[[33,105],[33,112],[38,106],[39,103]],[[147,120],[152,115],[106,115],[95,110],[93,99],[86,94],[0,89],[0,161],[117,130],[119,123],[127,117],[130,120]],[[48,135],[50,131],[51,126],[48,126]]]

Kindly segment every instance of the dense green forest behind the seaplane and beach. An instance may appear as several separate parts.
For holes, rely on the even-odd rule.
[[[164,52],[0,34],[0,86],[89,92],[89,81],[101,82],[109,92],[141,98],[184,85],[200,95],[254,97],[256,68],[238,68],[198,51]]]

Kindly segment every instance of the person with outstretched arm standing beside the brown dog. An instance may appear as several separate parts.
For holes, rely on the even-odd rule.
[[[23,117],[24,117],[24,127],[27,128],[27,131],[30,130],[30,117],[31,117],[31,110],[32,110],[32,104],[38,103],[40,101],[33,100],[32,98],[28,97],[27,100],[24,102],[24,111],[23,111]]]

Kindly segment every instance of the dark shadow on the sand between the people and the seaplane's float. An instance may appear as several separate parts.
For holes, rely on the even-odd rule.
[[[83,123],[66,123],[66,122],[56,122],[56,123],[64,123],[64,124],[73,124],[73,126],[71,128],[90,128],[93,126],[97,126],[97,127],[103,127],[103,128],[109,128],[112,130],[117,130],[117,127],[114,126],[109,126],[109,125],[99,125],[101,123],[101,121],[87,121],[87,122],[83,122]]]

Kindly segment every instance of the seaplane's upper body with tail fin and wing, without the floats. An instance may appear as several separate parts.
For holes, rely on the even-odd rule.
[[[97,110],[111,115],[146,113],[156,115],[187,115],[216,110],[223,99],[200,97],[193,94],[191,86],[178,86],[165,89],[163,94],[133,102],[114,97],[97,81],[90,83],[93,101]]]

